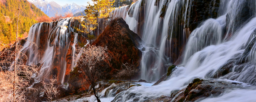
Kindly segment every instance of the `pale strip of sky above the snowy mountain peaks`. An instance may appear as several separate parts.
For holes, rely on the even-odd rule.
[[[78,5],[87,5],[87,2],[92,0],[47,0],[47,1],[54,1],[60,5],[72,4],[72,3],[76,3]]]

